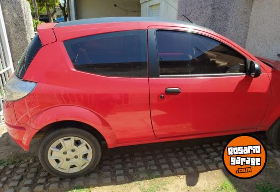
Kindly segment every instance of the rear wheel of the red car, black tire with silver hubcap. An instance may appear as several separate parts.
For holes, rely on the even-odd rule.
[[[50,174],[75,178],[84,176],[96,167],[101,148],[98,140],[89,132],[67,127],[47,133],[38,156],[43,168]]]

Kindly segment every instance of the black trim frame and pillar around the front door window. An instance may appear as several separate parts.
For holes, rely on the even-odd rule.
[[[213,39],[215,41],[220,42],[218,39],[206,36],[204,34],[201,34],[199,32],[195,31],[188,31],[188,30],[180,30],[180,29],[148,29],[148,56],[149,56],[149,78],[198,78],[198,77],[233,77],[233,76],[246,76],[247,75],[247,66],[248,66],[248,58],[243,53],[241,53],[239,50],[236,50],[235,47],[230,46],[229,44],[220,42],[222,44],[225,44],[226,46],[231,47],[235,51],[237,51],[239,54],[244,56],[245,61],[245,73],[223,73],[223,74],[192,74],[192,75],[160,75],[159,72],[159,60],[158,60],[158,52],[157,52],[157,43],[156,43],[156,31],[175,31],[175,32],[185,32],[185,33],[191,33],[191,34],[198,34],[203,37],[207,37],[210,39]],[[151,37],[152,36],[152,37]],[[155,50],[154,50],[155,49]],[[156,58],[155,58],[156,57]]]

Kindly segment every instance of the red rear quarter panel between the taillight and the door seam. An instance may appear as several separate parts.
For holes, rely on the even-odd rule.
[[[60,120],[92,125],[116,143],[155,139],[149,108],[148,78],[115,78],[76,71],[61,40],[43,46],[24,80],[38,82],[15,102],[16,117],[34,129]]]

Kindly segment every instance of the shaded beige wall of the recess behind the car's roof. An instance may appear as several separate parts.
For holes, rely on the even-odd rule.
[[[117,7],[127,10],[124,11]],[[132,12],[137,11],[137,12]],[[140,4],[137,0],[76,0],[76,19],[95,17],[140,16]]]

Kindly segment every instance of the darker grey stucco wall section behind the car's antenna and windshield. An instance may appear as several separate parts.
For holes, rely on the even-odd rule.
[[[253,0],[179,0],[179,11],[245,47]],[[179,20],[186,20],[178,15]]]

